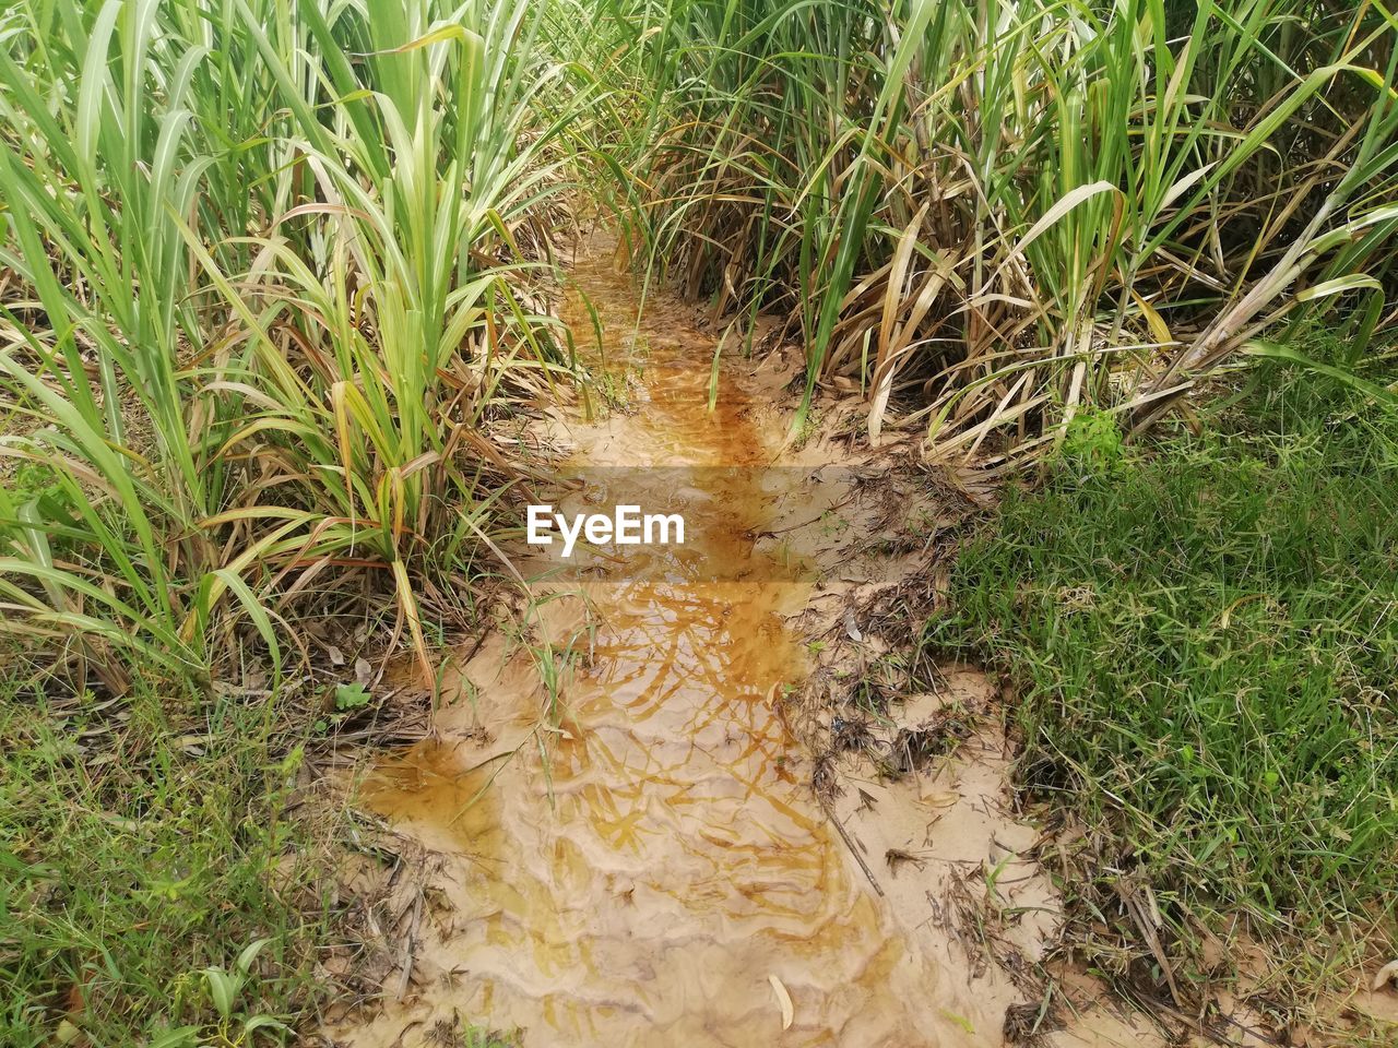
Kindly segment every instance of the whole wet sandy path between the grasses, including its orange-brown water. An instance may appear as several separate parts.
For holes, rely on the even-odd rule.
[[[605,246],[573,278],[566,319],[587,347],[596,309],[617,409],[541,422],[577,479],[559,504],[633,500],[689,534],[510,551],[531,599],[362,789],[414,857],[387,887],[401,950],[320,1042],[1179,1042],[1048,974],[1051,841],[1015,810],[995,687],[900,661],[976,493],[896,435],[851,451],[833,408],[793,442],[794,355],[759,338],[712,372],[695,309],[653,293],[637,320]]]

